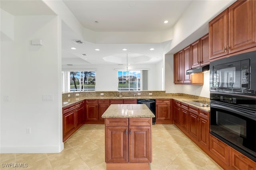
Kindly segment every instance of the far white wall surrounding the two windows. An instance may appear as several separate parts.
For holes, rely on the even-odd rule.
[[[129,65],[129,70],[148,70],[148,90],[161,90],[158,84],[158,78],[160,73],[160,67],[158,64],[136,64]],[[62,65],[62,70],[83,70],[83,69],[96,69],[96,91],[117,91],[118,90],[118,68],[119,70],[126,70],[126,67],[120,67],[118,65]]]

